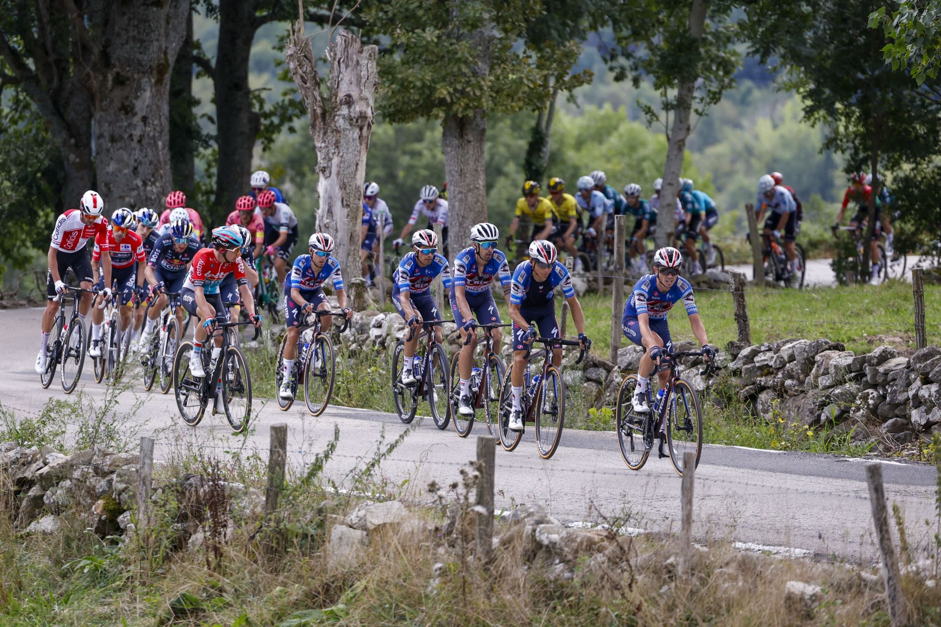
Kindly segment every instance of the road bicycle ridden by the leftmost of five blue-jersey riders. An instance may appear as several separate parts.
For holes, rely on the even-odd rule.
[[[284,336],[278,349],[278,364],[275,367],[275,395],[278,397],[278,406],[282,412],[291,409],[297,396],[297,386],[304,382],[304,403],[310,415],[321,415],[327,409],[330,395],[333,393],[333,380],[336,377],[336,358],[333,353],[333,342],[321,329],[320,319],[324,316],[343,317],[343,333],[349,327],[350,321],[346,319],[343,311],[317,311],[307,316],[307,323],[301,326],[300,337],[297,341],[297,358],[291,369],[291,398],[282,399],[278,394],[281,383],[284,381],[284,347],[287,346],[288,337]]]

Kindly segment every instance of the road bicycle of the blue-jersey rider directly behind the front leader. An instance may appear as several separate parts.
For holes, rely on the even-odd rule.
[[[566,422],[566,384],[562,380],[562,370],[552,365],[552,350],[563,346],[578,346],[579,358],[575,364],[581,364],[585,351],[581,344],[571,339],[558,337],[536,337],[534,343],[544,344],[545,349],[532,352],[532,345],[526,355],[526,370],[523,372],[523,389],[519,397],[519,408],[523,415],[523,424],[535,424],[535,447],[539,457],[548,460],[555,454],[562,439],[562,429]],[[531,377],[529,365],[534,359],[542,358],[542,369]],[[500,392],[500,428],[497,433],[504,450],[512,451],[518,447],[524,431],[510,431],[510,414],[513,412],[513,366],[510,366]]]

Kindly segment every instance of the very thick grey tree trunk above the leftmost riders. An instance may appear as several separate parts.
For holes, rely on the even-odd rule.
[[[135,0],[104,16],[93,123],[98,191],[109,210],[152,206],[170,188],[170,71],[188,11],[186,0]]]

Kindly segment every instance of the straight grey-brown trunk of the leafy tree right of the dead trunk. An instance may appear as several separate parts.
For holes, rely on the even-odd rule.
[[[444,174],[448,180],[448,248],[454,254],[469,245],[470,227],[486,222],[484,110],[473,116],[445,116],[442,122]]]

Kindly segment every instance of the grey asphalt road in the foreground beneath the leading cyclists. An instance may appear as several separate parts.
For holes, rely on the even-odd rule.
[[[43,390],[33,371],[39,323],[40,309],[0,311],[0,328],[7,341],[0,401],[19,415],[40,412],[50,398],[66,398],[58,373],[56,382]],[[255,380],[266,375],[270,376],[252,373]],[[80,388],[89,398],[101,400],[103,386],[94,383],[90,361]],[[137,384],[129,394],[140,395],[143,405],[128,416],[123,432],[152,434],[158,459],[193,448],[224,456],[225,450],[239,445],[224,416],[207,415],[198,427],[186,427],[177,415],[172,391],[167,396],[148,394]],[[255,407],[262,402],[256,399]],[[133,398],[122,398],[119,412],[128,412],[132,404]],[[338,426],[340,443],[327,464],[327,475],[346,487],[352,487],[349,474],[374,455],[380,433],[384,431],[389,442],[406,430],[395,415],[331,406],[325,415],[312,418],[302,401],[286,413],[269,401],[247,436],[247,447],[256,449],[263,460],[267,459],[269,426],[278,422],[288,424],[289,456],[295,468],[311,462],[332,437],[334,425]],[[475,458],[474,436],[480,434],[486,434],[483,423],[475,424],[471,436],[462,439],[452,429],[439,431],[430,419],[425,420],[382,462],[378,476],[389,486],[398,486],[403,496],[428,498],[425,486],[430,480],[447,486],[460,478],[460,467]],[[536,453],[530,430],[516,451],[497,449],[496,466],[498,509],[538,503],[565,523],[608,519],[649,531],[679,528],[680,478],[669,460],[651,456],[640,472],[630,471],[621,459],[614,432],[565,431],[555,456],[544,461]],[[885,461],[884,475],[888,498],[903,510],[909,540],[929,541],[933,530],[926,529],[925,521],[934,520],[933,467]],[[695,479],[694,533],[700,539],[730,538],[876,560],[862,460],[707,445]]]

